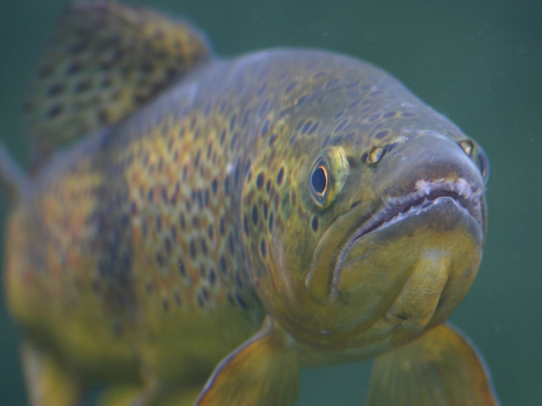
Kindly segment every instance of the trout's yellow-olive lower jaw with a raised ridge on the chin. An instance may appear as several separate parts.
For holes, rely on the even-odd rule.
[[[445,321],[474,281],[482,245],[478,222],[453,199],[356,239],[331,287],[332,301],[359,311],[348,335],[397,344]]]

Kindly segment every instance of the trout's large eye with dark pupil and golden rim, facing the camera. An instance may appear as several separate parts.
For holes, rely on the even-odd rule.
[[[328,147],[315,159],[309,179],[311,198],[319,208],[327,208],[346,182],[350,166],[342,148]]]

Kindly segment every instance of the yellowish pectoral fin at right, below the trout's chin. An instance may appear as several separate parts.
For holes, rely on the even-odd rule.
[[[497,406],[489,371],[469,340],[451,326],[375,359],[367,406]]]

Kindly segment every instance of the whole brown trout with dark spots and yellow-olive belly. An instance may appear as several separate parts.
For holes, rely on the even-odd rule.
[[[371,357],[367,405],[498,405],[445,323],[488,160],[384,71],[219,59],[186,21],[82,1],[25,115],[30,172],[0,172],[32,405],[294,405],[301,368]]]

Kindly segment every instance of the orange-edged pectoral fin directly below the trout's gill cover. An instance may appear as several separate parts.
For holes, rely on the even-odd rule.
[[[299,390],[299,359],[268,319],[217,366],[195,406],[288,406]]]

